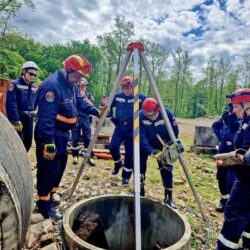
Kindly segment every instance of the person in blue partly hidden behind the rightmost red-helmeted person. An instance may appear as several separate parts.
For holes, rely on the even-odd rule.
[[[232,113],[232,104],[228,105],[229,111],[226,111],[222,117],[212,124],[213,131],[220,141],[218,153],[228,153],[234,150],[234,137],[239,129],[239,119]],[[235,179],[235,168],[224,166],[217,168],[217,180],[221,199],[216,207],[217,212],[223,212],[226,202],[230,196],[230,192]]]

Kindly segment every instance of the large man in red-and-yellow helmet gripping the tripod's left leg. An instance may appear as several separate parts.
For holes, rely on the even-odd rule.
[[[62,218],[54,208],[60,203],[54,194],[67,164],[68,131],[76,125],[77,110],[95,116],[101,116],[104,111],[90,106],[77,94],[76,83],[91,74],[92,65],[84,56],[69,56],[64,68],[45,79],[37,93],[37,207],[45,218]]]

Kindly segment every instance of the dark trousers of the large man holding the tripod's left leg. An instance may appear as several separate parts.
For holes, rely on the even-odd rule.
[[[52,195],[57,190],[67,164],[68,132],[55,130],[56,156],[54,160],[43,158],[44,143],[36,136],[37,192],[39,211],[47,217],[52,208]]]

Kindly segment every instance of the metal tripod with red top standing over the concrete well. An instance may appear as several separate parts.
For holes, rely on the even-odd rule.
[[[89,147],[87,149],[86,152],[86,156],[81,164],[81,167],[79,168],[78,174],[75,178],[75,181],[72,185],[72,188],[69,191],[69,195],[68,198],[71,198],[77,183],[79,182],[80,176],[83,172],[83,169],[88,161],[88,158],[90,157],[91,151],[94,147],[94,144],[96,142],[97,136],[100,133],[100,130],[103,126],[104,120],[107,116],[107,113],[110,110],[111,104],[113,102],[113,99],[117,93],[117,90],[119,88],[119,83],[122,79],[122,77],[124,76],[126,67],[128,65],[128,62],[131,58],[131,55],[134,55],[133,57],[133,67],[134,67],[134,128],[133,128],[133,139],[134,139],[134,190],[135,190],[135,240],[136,240],[136,250],[140,250],[141,249],[141,219],[140,219],[140,215],[141,215],[141,208],[140,208],[140,137],[139,137],[139,85],[138,85],[138,75],[139,75],[139,58],[143,63],[143,66],[145,68],[145,71],[147,73],[147,77],[149,80],[149,83],[151,85],[151,89],[153,91],[153,95],[155,97],[155,99],[158,101],[159,103],[159,107],[160,107],[160,112],[161,115],[163,117],[163,120],[165,122],[166,125],[166,129],[169,133],[169,136],[171,138],[172,142],[176,142],[177,139],[175,137],[175,134],[173,132],[173,129],[171,127],[170,121],[168,119],[168,116],[166,114],[163,102],[161,100],[160,94],[158,92],[156,83],[153,79],[153,75],[148,67],[148,63],[146,60],[146,57],[144,55],[144,46],[141,43],[131,43],[128,45],[127,47],[127,52],[126,52],[126,56],[124,59],[124,62],[119,70],[119,73],[116,77],[115,83],[114,83],[114,87],[111,91],[111,94],[109,96],[108,99],[108,104],[107,104],[107,109],[105,110],[103,116],[99,119],[99,122],[97,124],[97,128],[95,130],[95,133],[91,139],[91,142],[89,144]],[[202,205],[200,202],[200,199],[197,195],[197,192],[195,190],[195,187],[191,181],[191,177],[190,174],[188,172],[188,169],[186,167],[185,161],[183,159],[183,156],[180,155],[179,156],[179,161],[180,164],[184,170],[184,173],[187,177],[188,183],[190,185],[190,188],[193,192],[195,201],[199,207],[199,210],[201,212],[202,218],[204,221],[207,221],[207,217],[205,216],[203,209],[202,209]]]

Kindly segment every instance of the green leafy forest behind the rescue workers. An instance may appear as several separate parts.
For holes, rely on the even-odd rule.
[[[123,62],[126,48],[133,42],[134,24],[123,16],[114,18],[112,31],[97,35],[97,43],[88,39],[72,40],[66,44],[45,45],[31,39],[13,26],[12,20],[23,6],[34,8],[31,0],[1,0],[0,3],[0,78],[15,79],[21,65],[28,60],[39,66],[36,79],[41,82],[63,67],[63,60],[71,54],[83,54],[93,65],[88,90],[99,103],[102,95],[109,95]],[[162,44],[141,37],[145,55],[164,104],[177,117],[197,118],[216,116],[226,107],[227,94],[239,87],[250,87],[250,54],[241,57],[238,65],[230,60],[211,56],[201,68],[202,79],[192,74],[192,59],[183,48],[168,51]],[[216,48],[215,48],[216,49]],[[140,91],[151,96],[150,86],[140,65]],[[127,67],[127,75],[133,65]]]

